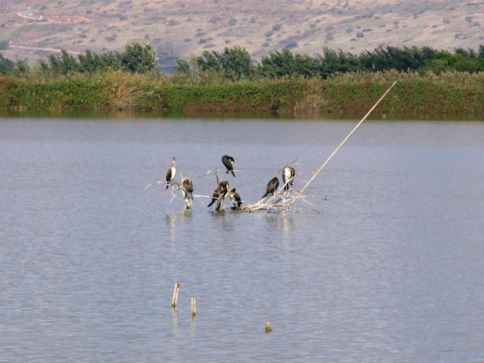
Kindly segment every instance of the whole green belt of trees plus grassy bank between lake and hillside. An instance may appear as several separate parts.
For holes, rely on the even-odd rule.
[[[324,48],[317,57],[284,49],[261,62],[234,46],[179,60],[168,75],[157,68],[156,50],[140,43],[77,58],[62,51],[32,68],[0,55],[0,109],[355,114],[397,81],[377,112],[483,115],[483,62],[484,46],[454,53],[386,47],[359,56]]]

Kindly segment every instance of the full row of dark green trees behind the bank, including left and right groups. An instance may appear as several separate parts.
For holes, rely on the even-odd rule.
[[[86,50],[77,59],[62,50],[61,55],[49,55],[39,62],[39,71],[53,77],[72,73],[95,73],[98,71],[126,71],[148,73],[157,71],[158,56],[153,46],[132,43],[123,53],[107,52],[98,54]],[[446,71],[478,73],[484,71],[484,45],[478,50],[457,48],[454,53],[435,50],[424,46],[418,48],[397,48],[386,46],[366,50],[360,55],[345,53],[342,50],[323,48],[320,55],[310,56],[292,53],[289,49],[277,50],[254,62],[248,51],[241,46],[226,47],[223,52],[205,50],[202,55],[189,60],[178,59],[177,75],[198,77],[202,73],[217,73],[227,80],[251,80],[254,78],[279,77],[322,77],[326,79],[336,73],[378,72],[394,69],[400,72],[428,71],[439,75]],[[30,72],[26,62],[12,62],[0,53],[0,75],[25,75]]]

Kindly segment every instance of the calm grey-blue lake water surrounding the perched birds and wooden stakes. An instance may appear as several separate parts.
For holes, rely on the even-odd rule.
[[[313,206],[206,206],[224,154],[254,203],[356,123],[0,119],[0,362],[482,362],[484,122],[366,121]],[[192,211],[144,190],[172,156]]]

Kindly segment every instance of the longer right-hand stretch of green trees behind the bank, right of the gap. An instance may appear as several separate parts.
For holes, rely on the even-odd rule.
[[[336,73],[389,71],[427,71],[438,75],[445,71],[477,73],[484,71],[484,46],[478,50],[458,48],[454,53],[425,46],[397,48],[387,46],[366,50],[360,55],[342,50],[324,48],[322,55],[311,57],[292,53],[289,49],[277,50],[253,62],[245,48],[225,48],[223,53],[205,50],[189,61],[178,60],[178,74],[194,75],[203,71],[221,72],[230,80],[252,77],[304,76],[326,79]]]

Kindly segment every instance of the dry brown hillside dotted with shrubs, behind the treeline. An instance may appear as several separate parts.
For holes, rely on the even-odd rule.
[[[482,0],[2,0],[0,52],[33,63],[61,48],[124,50],[151,43],[160,64],[245,47],[260,60],[290,48],[354,54],[378,46],[474,48],[484,44]]]

